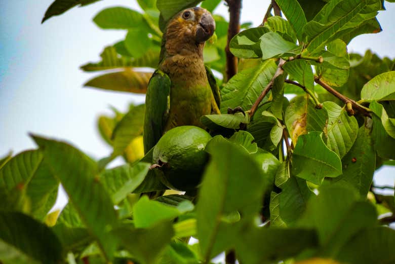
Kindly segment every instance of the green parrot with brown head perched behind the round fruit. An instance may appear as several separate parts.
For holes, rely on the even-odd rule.
[[[203,61],[205,42],[214,31],[214,18],[200,7],[185,9],[167,23],[159,66],[145,98],[145,154],[170,129],[186,125],[205,129],[201,117],[220,114],[220,90]]]

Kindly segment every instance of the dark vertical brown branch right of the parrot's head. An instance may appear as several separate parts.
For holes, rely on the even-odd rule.
[[[226,53],[226,81],[238,72],[238,59],[230,52],[229,44],[233,37],[240,31],[240,11],[242,0],[225,0],[229,8],[228,42]]]

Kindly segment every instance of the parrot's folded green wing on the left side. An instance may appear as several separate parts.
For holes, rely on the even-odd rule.
[[[162,137],[169,111],[168,97],[171,81],[161,70],[156,70],[149,80],[145,96],[144,154]]]

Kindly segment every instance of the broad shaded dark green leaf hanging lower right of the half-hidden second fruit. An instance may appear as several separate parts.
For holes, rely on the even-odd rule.
[[[287,226],[292,226],[306,210],[307,201],[314,193],[307,187],[306,180],[298,177],[290,177],[281,188],[280,217]]]

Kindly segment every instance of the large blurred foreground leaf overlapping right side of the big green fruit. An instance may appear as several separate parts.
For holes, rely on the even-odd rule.
[[[243,219],[251,219],[268,185],[258,163],[242,146],[220,137],[214,139],[206,148],[212,159],[196,205],[198,237],[206,261],[232,246],[238,223],[231,220],[233,215],[240,212]]]

